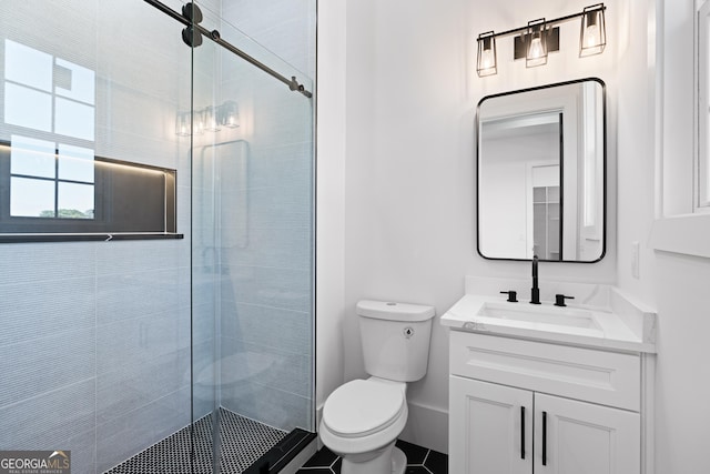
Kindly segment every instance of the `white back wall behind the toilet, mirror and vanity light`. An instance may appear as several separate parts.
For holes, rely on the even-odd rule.
[[[631,58],[646,58],[645,41],[629,41],[631,2],[607,2],[609,46],[601,56],[577,58],[579,27],[570,23],[562,28],[562,44],[570,46],[550,56],[547,67],[527,70],[514,63],[508,59],[513,44],[508,38],[500,41],[498,75],[479,79],[475,71],[478,33],[584,7],[585,2],[564,0],[347,3],[347,82],[342,85],[346,380],[365,376],[354,313],[357,300],[432,304],[440,316],[463,295],[467,274],[529,274],[526,263],[476,255],[473,129],[476,103],[484,95],[592,75],[607,83],[611,191],[607,256],[597,264],[544,264],[540,278],[542,285],[546,279],[616,281],[615,130],[620,80],[616,68]],[[408,399],[410,424],[404,437],[447,451],[448,334],[438,323],[428,374],[410,385]]]

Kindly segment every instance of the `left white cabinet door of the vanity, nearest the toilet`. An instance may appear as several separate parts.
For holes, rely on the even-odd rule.
[[[532,392],[450,376],[449,472],[530,474]]]

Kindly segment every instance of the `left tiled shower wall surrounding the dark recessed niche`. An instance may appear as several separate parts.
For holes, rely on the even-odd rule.
[[[95,71],[95,153],[176,168],[186,234],[0,245],[0,450],[71,450],[72,472],[102,472],[190,422],[190,169],[173,122],[189,110],[190,50],[180,30],[141,0],[0,3],[1,75],[4,39]],[[0,139],[11,133],[0,123]]]

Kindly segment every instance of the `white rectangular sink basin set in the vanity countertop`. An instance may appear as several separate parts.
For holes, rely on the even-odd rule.
[[[486,302],[480,306],[477,315],[479,317],[491,317],[496,320],[520,321],[526,323],[540,323],[598,331],[601,330],[590,311],[570,310],[568,307],[558,306],[538,307],[524,304],[525,303]]]

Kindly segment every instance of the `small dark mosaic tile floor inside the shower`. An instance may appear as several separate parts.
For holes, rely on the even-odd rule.
[[[221,472],[242,473],[277,444],[286,432],[220,409]],[[191,437],[191,430],[193,436]],[[194,462],[191,466],[191,450]],[[185,426],[105,474],[211,474],[212,416]]]

